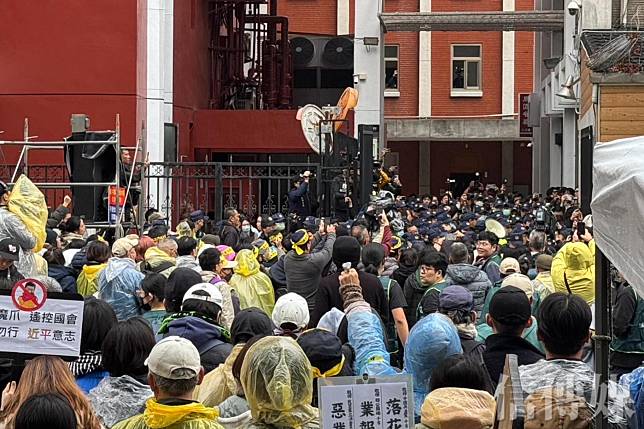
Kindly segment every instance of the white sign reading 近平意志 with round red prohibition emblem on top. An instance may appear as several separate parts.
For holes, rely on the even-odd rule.
[[[11,295],[0,295],[0,352],[78,356],[83,305],[48,297],[38,280],[17,282]]]

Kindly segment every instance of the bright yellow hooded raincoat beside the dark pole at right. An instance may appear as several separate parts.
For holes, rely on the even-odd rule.
[[[564,245],[552,259],[550,273],[555,292],[568,293],[567,280],[572,293],[588,304],[595,302],[595,240],[588,245],[580,242]]]

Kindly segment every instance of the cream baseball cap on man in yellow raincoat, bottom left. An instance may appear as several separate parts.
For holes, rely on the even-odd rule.
[[[150,372],[169,380],[188,380],[201,371],[201,357],[197,348],[185,338],[166,337],[152,347],[145,360]],[[187,369],[194,374],[175,374],[178,369]]]

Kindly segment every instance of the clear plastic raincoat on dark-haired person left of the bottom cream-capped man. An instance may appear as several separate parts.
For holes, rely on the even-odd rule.
[[[111,428],[123,419],[137,415],[154,394],[150,387],[129,375],[106,377],[90,390],[89,400],[101,423]]]

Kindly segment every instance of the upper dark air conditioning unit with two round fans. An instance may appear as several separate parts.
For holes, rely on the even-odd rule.
[[[353,40],[348,37],[293,37],[291,52],[295,69],[347,70],[353,68]]]

